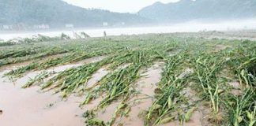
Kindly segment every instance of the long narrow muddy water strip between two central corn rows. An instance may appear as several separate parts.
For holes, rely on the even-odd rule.
[[[152,106],[154,91],[156,89],[156,83],[160,82],[162,69],[160,65],[153,65],[141,76],[140,80],[135,83],[137,87],[135,89],[140,91],[141,94],[137,94],[134,98],[131,98],[128,102],[131,106],[128,117],[119,117],[115,125],[122,124],[127,126],[144,125],[144,120],[139,117],[140,113],[144,110],[148,110]]]

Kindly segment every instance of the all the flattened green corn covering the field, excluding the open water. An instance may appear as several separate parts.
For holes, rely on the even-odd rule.
[[[204,39],[183,34],[122,35],[0,47],[0,67],[30,61],[6,76],[17,78],[41,71],[24,83],[24,88],[37,85],[42,90],[61,93],[62,98],[77,94],[85,98],[81,101],[85,108],[98,100],[93,109],[86,110],[86,124],[118,125],[119,117],[130,116],[130,99],[141,93],[135,84],[144,77],[141,73],[164,62],[160,83],[152,83],[156,84],[152,105],[141,112],[145,126],[186,124],[195,120],[194,113],[199,109],[207,112],[200,119],[198,116],[205,125],[254,126],[255,47],[256,43],[249,40]],[[56,54],[61,55],[55,57]],[[103,56],[99,61],[83,62],[99,56]],[[77,62],[80,65],[61,72],[47,71]],[[107,75],[88,85],[88,80],[102,68],[109,71]],[[239,83],[239,87],[232,82]],[[99,112],[114,104],[117,106],[111,119],[101,120]]]

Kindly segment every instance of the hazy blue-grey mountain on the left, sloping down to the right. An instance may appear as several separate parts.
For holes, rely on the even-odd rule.
[[[65,24],[76,27],[115,24],[142,24],[149,20],[130,13],[112,13],[101,9],[71,6],[62,0],[0,0],[0,24],[50,24],[59,28]]]

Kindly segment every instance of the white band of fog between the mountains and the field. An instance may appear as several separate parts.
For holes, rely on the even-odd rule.
[[[130,27],[130,28],[73,28],[70,30],[55,31],[8,31],[0,32],[0,39],[9,40],[15,38],[31,38],[33,35],[41,34],[55,37],[65,33],[74,38],[73,32],[85,31],[91,37],[107,35],[139,35],[147,33],[173,33],[173,32],[198,32],[198,31],[238,31],[256,30],[256,19],[253,20],[233,20],[218,23],[202,23],[190,21],[183,24],[154,25],[149,27]]]

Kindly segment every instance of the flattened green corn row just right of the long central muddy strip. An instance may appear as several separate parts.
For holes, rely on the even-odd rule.
[[[166,58],[166,67],[159,88],[156,89],[156,100],[145,117],[145,125],[165,124],[178,118],[173,113],[177,112],[177,109],[182,109],[179,106],[186,103],[186,98],[179,93],[186,87],[188,76],[178,77],[179,69],[183,69],[186,61],[185,57],[185,50],[183,50],[175,56]],[[186,120],[189,120],[191,113],[193,113],[190,111],[186,114]]]

